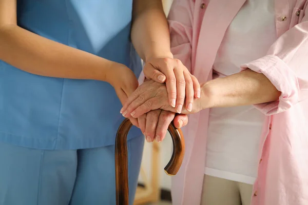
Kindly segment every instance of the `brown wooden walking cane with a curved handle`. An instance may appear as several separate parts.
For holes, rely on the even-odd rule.
[[[115,138],[115,189],[117,205],[128,205],[128,161],[127,161],[127,134],[132,124],[126,118],[119,127]],[[185,142],[181,129],[177,129],[173,122],[168,131],[173,142],[171,159],[165,167],[168,175],[176,175],[184,158]]]

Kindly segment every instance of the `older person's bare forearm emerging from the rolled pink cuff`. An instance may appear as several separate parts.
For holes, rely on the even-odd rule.
[[[263,74],[252,70],[210,80],[202,86],[203,109],[275,101],[280,92]]]

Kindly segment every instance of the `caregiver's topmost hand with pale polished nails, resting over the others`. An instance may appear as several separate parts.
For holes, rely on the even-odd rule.
[[[198,79],[191,75],[181,60],[174,58],[150,58],[146,60],[144,75],[158,83],[166,83],[168,91],[168,104],[181,113],[184,100],[185,108],[192,109],[194,97],[200,97]]]

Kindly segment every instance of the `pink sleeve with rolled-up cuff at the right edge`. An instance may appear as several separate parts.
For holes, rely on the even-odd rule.
[[[281,35],[266,56],[241,68],[263,73],[281,91],[277,101],[255,105],[266,115],[283,112],[308,99],[308,15]]]

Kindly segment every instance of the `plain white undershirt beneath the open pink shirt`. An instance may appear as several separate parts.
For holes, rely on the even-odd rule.
[[[266,55],[276,40],[274,13],[274,0],[246,1],[225,33],[214,78]],[[210,109],[205,174],[253,184],[264,118],[253,106]]]

